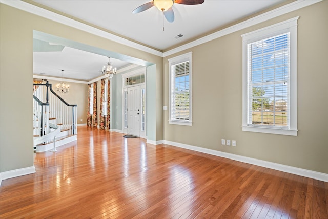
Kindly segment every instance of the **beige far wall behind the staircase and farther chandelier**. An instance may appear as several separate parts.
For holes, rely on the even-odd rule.
[[[52,84],[52,89],[56,92],[56,85],[58,82],[55,80],[49,80]],[[65,82],[65,79],[64,79]],[[68,94],[59,94],[68,104],[77,104],[77,124],[87,123],[88,112],[88,84],[65,82],[70,85],[70,91]],[[81,121],[82,120],[82,121]]]

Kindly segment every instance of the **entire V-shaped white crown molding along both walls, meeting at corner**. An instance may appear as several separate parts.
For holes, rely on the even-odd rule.
[[[250,19],[247,19],[246,21],[240,22],[238,24],[235,24],[235,25],[230,26],[228,28],[225,28],[223,30],[220,30],[220,31],[217,31],[215,33],[209,34],[207,36],[201,37],[199,39],[196,39],[193,42],[190,42],[190,43],[187,43],[185,45],[176,47],[176,48],[171,49],[171,50],[166,51],[166,52],[160,52],[160,51],[151,49],[147,46],[144,46],[144,45],[141,45],[141,44],[138,44],[138,43],[134,43],[132,41],[129,41],[128,39],[116,36],[114,34],[108,33],[108,32],[103,31],[103,30],[99,30],[95,27],[91,27],[89,25],[86,25],[86,24],[83,24],[81,22],[75,21],[74,19],[65,17],[63,15],[56,14],[54,12],[48,11],[48,10],[43,9],[43,8],[39,8],[37,6],[31,5],[29,3],[26,3],[26,2],[23,2],[23,1],[20,1],[20,0],[0,0],[0,3],[9,5],[11,7],[14,7],[14,8],[23,10],[23,11],[27,11],[29,13],[32,13],[32,14],[35,14],[35,15],[38,15],[38,16],[45,17],[45,18],[50,19],[52,21],[58,22],[60,24],[64,24],[64,25],[67,25],[67,26],[70,26],[70,27],[73,27],[73,28],[76,28],[76,29],[79,29],[79,30],[83,30],[85,32],[88,32],[88,33],[91,33],[91,34],[94,34],[94,35],[109,39],[110,41],[114,41],[114,42],[120,43],[122,45],[126,45],[126,46],[129,46],[129,47],[132,47],[132,48],[144,51],[144,52],[148,52],[150,54],[157,55],[157,56],[160,56],[160,57],[166,57],[166,56],[175,54],[177,52],[180,52],[180,51],[183,51],[183,50],[186,50],[186,49],[190,49],[192,47],[207,43],[209,41],[213,41],[213,39],[228,35],[230,33],[242,30],[244,28],[251,27],[253,25],[268,21],[269,19],[275,18],[277,16],[280,16],[280,15],[283,15],[283,14],[286,14],[286,13],[289,13],[289,12],[304,8],[306,6],[309,6],[309,5],[312,5],[312,4],[321,2],[321,1],[323,1],[323,0],[297,0],[297,1],[292,2],[290,4],[281,6],[279,8],[274,9],[274,10],[265,12],[263,14],[255,16],[255,17],[252,17]]]

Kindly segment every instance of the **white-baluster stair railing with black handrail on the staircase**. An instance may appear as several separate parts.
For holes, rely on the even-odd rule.
[[[34,93],[49,104],[49,119],[56,118],[56,123],[61,129],[68,129],[69,134],[77,134],[77,105],[68,104],[56,92],[52,90],[52,84],[33,84],[40,86]],[[42,86],[42,87],[41,87]],[[50,90],[50,92],[49,92]]]

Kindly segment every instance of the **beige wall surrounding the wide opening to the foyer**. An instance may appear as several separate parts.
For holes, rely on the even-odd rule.
[[[0,4],[0,28],[0,172],[33,166],[33,30],[155,63],[156,74],[162,77],[159,56],[4,4]],[[161,101],[162,90],[154,92]],[[160,105],[156,105],[158,108],[156,111],[161,112]],[[156,124],[162,133],[162,121]]]

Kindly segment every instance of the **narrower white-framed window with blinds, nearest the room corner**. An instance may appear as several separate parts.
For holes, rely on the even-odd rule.
[[[191,53],[169,59],[170,124],[192,125]]]

